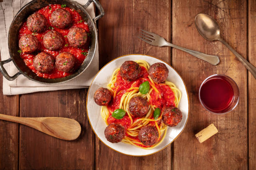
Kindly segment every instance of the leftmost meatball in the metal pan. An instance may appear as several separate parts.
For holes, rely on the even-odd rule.
[[[19,47],[22,52],[32,53],[38,49],[38,40],[35,36],[28,34],[20,37]]]

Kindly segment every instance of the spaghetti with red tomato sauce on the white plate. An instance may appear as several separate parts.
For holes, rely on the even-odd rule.
[[[120,68],[113,72],[107,85],[108,90],[113,93],[113,99],[107,106],[101,107],[101,115],[107,125],[110,123],[123,125],[126,129],[125,137],[122,140],[123,143],[149,150],[158,146],[166,136],[167,126],[161,121],[162,109],[171,106],[178,107],[181,92],[172,82],[155,83],[148,75],[150,65],[145,60],[137,60],[135,62],[141,67],[140,77],[137,80],[123,80],[120,76]],[[149,82],[150,90],[147,94],[141,94],[139,86],[145,81]],[[138,96],[143,97],[149,103],[148,112],[143,117],[133,116],[128,109],[130,100]],[[125,116],[120,120],[111,116],[113,111],[118,108],[126,112]],[[154,120],[154,110],[156,108],[161,109],[161,115]],[[159,133],[158,142],[153,146],[143,145],[138,140],[140,129],[146,125],[155,126]]]

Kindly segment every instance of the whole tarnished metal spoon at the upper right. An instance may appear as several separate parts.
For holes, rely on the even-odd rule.
[[[198,32],[204,37],[206,40],[219,40],[224,45],[231,50],[234,55],[242,62],[242,64],[251,72],[253,77],[256,79],[256,67],[254,67],[250,62],[248,62],[244,57],[242,57],[238,52],[236,52],[227,42],[225,42],[220,37],[220,27],[218,23],[206,14],[197,14],[195,17],[195,25],[197,27]]]

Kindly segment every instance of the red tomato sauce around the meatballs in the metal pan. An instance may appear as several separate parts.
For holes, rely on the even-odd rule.
[[[23,52],[20,53],[20,57],[25,62],[26,66],[28,66],[39,77],[52,79],[52,78],[61,78],[61,77],[66,77],[68,75],[72,75],[82,65],[82,63],[84,62],[84,59],[86,58],[86,56],[88,54],[89,48],[90,48],[89,26],[83,20],[82,16],[79,15],[79,13],[77,13],[76,10],[69,8],[69,7],[64,7],[64,9],[67,10],[71,14],[72,24],[70,27],[65,28],[65,29],[60,29],[60,28],[56,28],[50,24],[49,18],[51,17],[51,13],[53,13],[54,10],[59,9],[59,8],[61,8],[61,5],[59,5],[59,4],[50,4],[50,5],[47,5],[46,7],[41,8],[40,10],[36,11],[36,13],[40,13],[40,14],[44,15],[44,17],[47,20],[47,29],[44,32],[40,32],[40,33],[31,32],[30,30],[28,30],[26,21],[21,25],[20,30],[19,30],[19,35],[18,35],[19,40],[20,40],[20,37],[23,35],[32,34],[37,38],[37,40],[39,42],[39,49],[38,49],[39,51],[37,53],[32,53],[32,54],[26,54]],[[74,27],[83,28],[87,32],[87,35],[88,35],[87,43],[83,47],[76,48],[76,47],[72,47],[69,45],[69,42],[67,40],[67,34],[69,33],[69,29],[74,28]],[[64,43],[60,50],[51,51],[44,47],[43,37],[50,30],[57,31],[62,35],[62,39],[64,40]],[[54,58],[57,55],[59,55],[60,52],[71,53],[76,58],[76,64],[74,66],[74,71],[73,72],[62,72],[62,71],[59,71],[56,68],[54,68],[54,70],[52,70],[50,73],[38,72],[35,69],[35,67],[33,66],[33,59],[36,56],[36,54],[38,54],[40,51],[47,52],[50,55],[52,55]]]

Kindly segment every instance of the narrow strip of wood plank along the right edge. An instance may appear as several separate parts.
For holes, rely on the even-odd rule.
[[[248,61],[256,66],[256,0],[248,2]],[[256,80],[248,72],[248,156],[249,170],[256,169]]]

